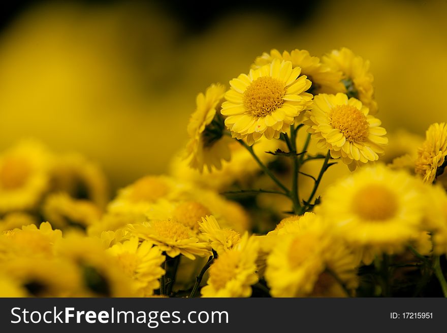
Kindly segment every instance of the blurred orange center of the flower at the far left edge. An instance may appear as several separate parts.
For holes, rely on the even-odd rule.
[[[31,174],[28,161],[20,157],[7,159],[0,167],[0,184],[4,189],[21,188]]]

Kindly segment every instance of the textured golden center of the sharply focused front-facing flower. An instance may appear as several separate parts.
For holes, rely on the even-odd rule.
[[[265,117],[279,108],[284,100],[285,85],[272,77],[260,77],[245,90],[245,110],[256,117]]]

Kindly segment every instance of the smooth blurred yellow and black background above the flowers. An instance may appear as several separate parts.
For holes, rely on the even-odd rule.
[[[37,138],[100,163],[116,189],[162,173],[198,92],[272,48],[371,61],[378,118],[446,121],[446,1],[14,2],[0,31],[0,150]]]

